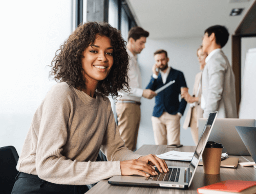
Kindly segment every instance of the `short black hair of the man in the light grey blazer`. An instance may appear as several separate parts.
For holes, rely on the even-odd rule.
[[[216,44],[219,44],[221,47],[226,45],[226,43],[228,41],[229,33],[225,26],[220,26],[220,25],[211,26],[204,31],[204,34],[206,32],[208,34],[208,37],[212,33],[215,34]]]

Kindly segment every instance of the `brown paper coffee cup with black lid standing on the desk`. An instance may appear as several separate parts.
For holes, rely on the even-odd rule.
[[[219,175],[221,168],[222,144],[214,141],[208,141],[202,158],[203,169],[205,174]]]

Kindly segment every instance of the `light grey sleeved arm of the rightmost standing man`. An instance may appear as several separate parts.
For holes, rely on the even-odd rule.
[[[209,63],[210,62],[210,63]],[[219,61],[213,60],[208,63],[209,86],[206,98],[206,106],[203,117],[207,118],[209,113],[219,109],[220,100],[224,87],[225,68]]]

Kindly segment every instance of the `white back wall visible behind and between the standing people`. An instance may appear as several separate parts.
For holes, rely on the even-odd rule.
[[[202,32],[203,34],[203,32]],[[181,70],[185,76],[189,93],[193,91],[195,76],[199,72],[199,63],[197,60],[197,49],[201,45],[201,37],[190,38],[176,38],[176,39],[159,39],[153,40],[147,38],[146,47],[138,55],[138,63],[140,65],[142,74],[142,87],[145,88],[150,81],[152,75],[152,66],[154,65],[154,52],[158,49],[164,49],[168,53],[170,59],[168,65]],[[227,45],[223,48],[224,53],[227,55],[229,61],[231,59],[231,38]],[[230,61],[231,63],[231,61]],[[154,134],[152,129],[151,116],[155,105],[155,99],[141,100],[141,122],[138,136],[137,148],[143,144],[155,144]],[[188,105],[181,118],[181,144],[184,146],[194,146],[190,129],[184,130],[183,123],[188,110]]]

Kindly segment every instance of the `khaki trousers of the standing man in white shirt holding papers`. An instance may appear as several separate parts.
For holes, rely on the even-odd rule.
[[[140,126],[140,105],[134,103],[116,103],[118,128],[125,147],[136,149]]]

